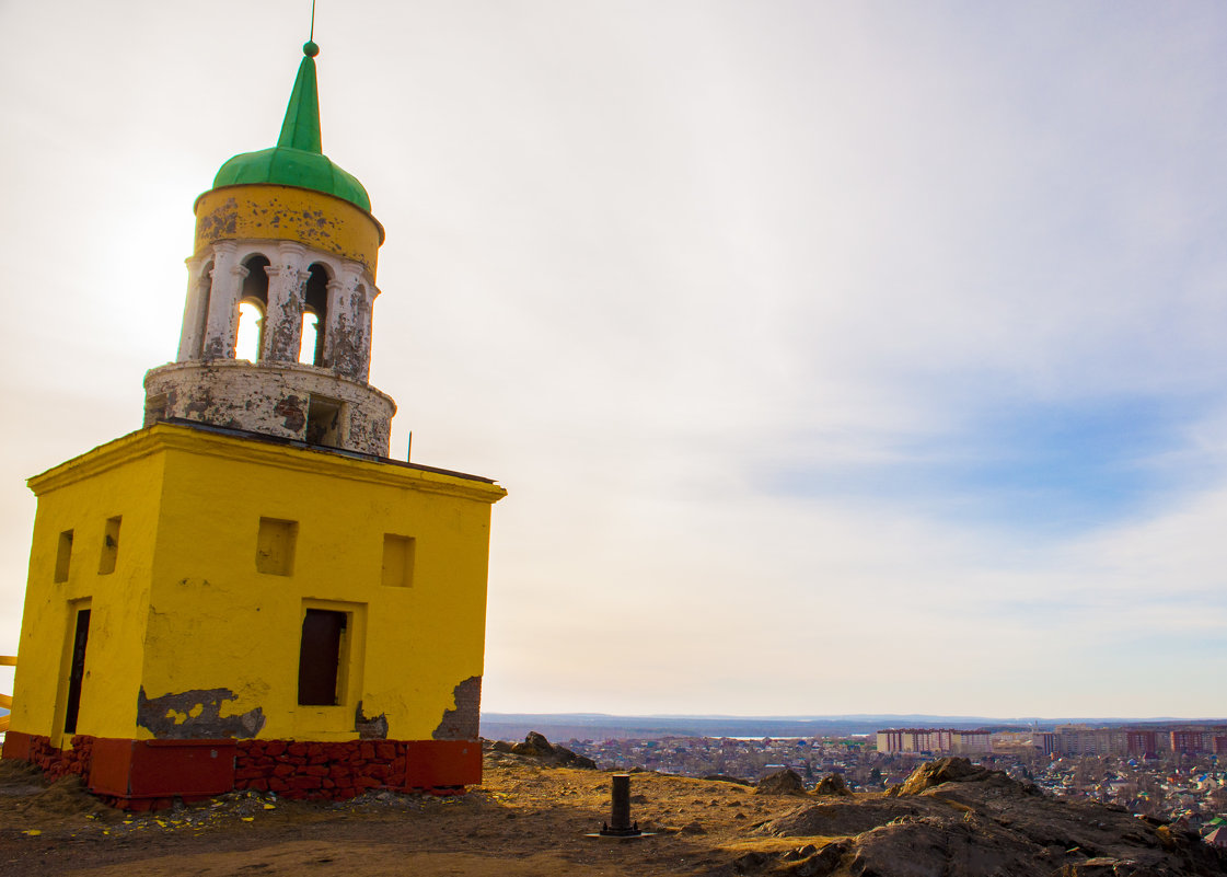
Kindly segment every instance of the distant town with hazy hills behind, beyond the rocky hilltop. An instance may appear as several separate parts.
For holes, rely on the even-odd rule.
[[[874,722],[872,719],[886,719]],[[962,756],[1034,783],[1065,800],[1096,800],[1210,835],[1227,829],[1227,720],[1043,721],[951,719],[901,727],[918,716],[731,719],[720,716],[482,716],[488,738],[540,731],[600,768],[757,780],[790,769],[806,785],[839,774],[853,791],[882,791],[921,762]],[[935,718],[935,716],[929,716]],[[526,722],[526,724],[525,724]],[[533,725],[533,727],[529,727]],[[780,729],[843,732],[789,733]],[[875,726],[876,725],[876,726]],[[961,726],[962,725],[962,726]],[[675,733],[720,727],[731,733]],[[777,729],[761,733],[763,727]],[[508,729],[510,733],[497,733]],[[523,730],[523,732],[520,732]],[[610,733],[591,733],[594,730]],[[647,729],[636,736],[636,730]],[[870,730],[871,729],[871,730]],[[568,731],[578,731],[568,732]],[[1222,762],[1222,764],[1220,764]]]

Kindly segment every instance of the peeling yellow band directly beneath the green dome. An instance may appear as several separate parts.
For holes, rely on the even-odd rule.
[[[288,185],[227,185],[196,199],[199,254],[217,240],[297,240],[362,262],[373,275],[383,226],[348,201]]]

